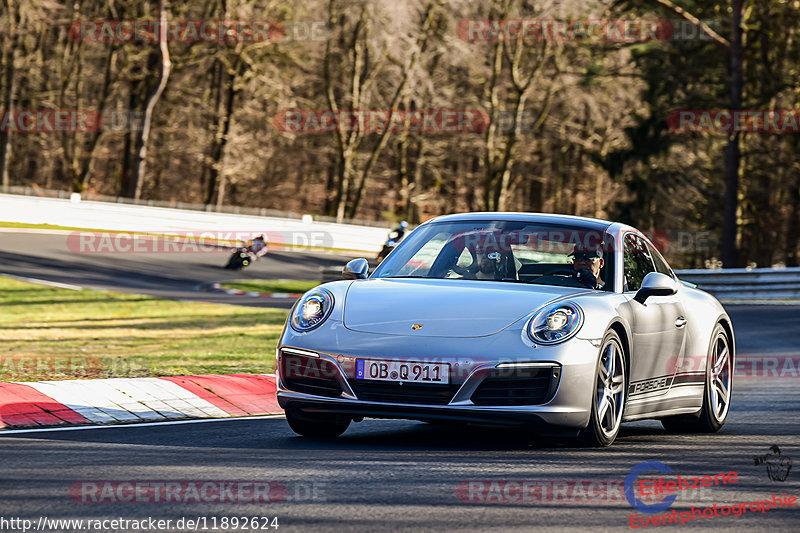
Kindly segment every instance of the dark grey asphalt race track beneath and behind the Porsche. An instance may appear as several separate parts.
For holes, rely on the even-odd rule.
[[[63,236],[0,234],[2,272],[164,297],[261,303],[245,297],[217,299],[224,295],[193,290],[203,282],[241,277],[220,268],[225,259],[216,254],[82,256],[66,250]],[[341,259],[275,254],[244,274],[313,279],[319,266],[340,264]],[[795,356],[796,365],[800,306],[737,305],[728,310],[738,356]],[[635,511],[622,494],[623,481],[643,461],[659,461],[682,476],[738,474],[735,483],[682,492],[666,512],[771,500],[772,494],[800,497],[798,384],[800,376],[791,372],[736,379],[733,406],[721,432],[676,436],[666,434],[657,422],[638,422],[624,425],[607,449],[577,448],[508,430],[385,420],[366,420],[339,439],[315,441],[294,436],[279,417],[6,434],[0,437],[0,517],[34,523],[40,517],[170,519],[173,529],[182,517],[204,518],[206,531],[234,531],[232,522],[221,527],[223,518],[234,516],[270,521],[277,516],[277,531],[631,530],[629,516]],[[781,456],[770,451],[775,445]],[[754,458],[765,454],[770,454],[775,479],[767,465],[755,464]],[[793,469],[788,467],[791,460]],[[273,487],[282,488],[270,492],[278,501],[269,503],[242,501],[246,497],[224,503],[196,503],[188,497],[180,503],[118,503],[112,492],[101,503],[86,503],[85,495],[81,497],[81,488],[90,483],[120,486],[136,481],[182,486],[277,482]],[[500,489],[488,490],[491,481]],[[521,496],[525,481],[539,487],[531,497]],[[556,486],[559,490],[553,492]],[[214,518],[217,529],[211,527]],[[259,520],[257,529],[262,530],[265,522]],[[800,510],[748,510],[739,517],[647,530],[667,528],[798,531]],[[203,531],[202,525],[191,529]],[[0,530],[11,529],[0,523]],[[236,530],[243,530],[241,523]]]

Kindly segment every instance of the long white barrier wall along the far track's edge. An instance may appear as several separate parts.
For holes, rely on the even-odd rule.
[[[287,247],[334,249],[374,255],[389,230],[355,224],[210,213],[110,202],[71,201],[0,194],[0,221],[53,224],[76,228],[147,233],[207,233],[219,238],[265,233],[269,241]],[[235,238],[235,237],[232,237]]]

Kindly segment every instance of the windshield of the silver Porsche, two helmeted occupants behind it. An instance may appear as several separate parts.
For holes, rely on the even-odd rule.
[[[519,221],[420,226],[375,270],[378,278],[466,279],[613,290],[612,237],[580,225]],[[574,254],[577,254],[574,255]],[[586,255],[591,255],[586,259]],[[600,257],[598,257],[600,256]],[[605,256],[605,257],[602,257]]]

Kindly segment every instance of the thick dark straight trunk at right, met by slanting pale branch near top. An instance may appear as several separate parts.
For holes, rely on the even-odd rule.
[[[731,20],[731,105],[733,112],[742,107],[742,0],[733,0],[733,17]],[[725,197],[723,200],[722,221],[722,266],[734,268],[739,266],[737,246],[739,208],[739,132],[728,134],[728,147],[725,151]]]

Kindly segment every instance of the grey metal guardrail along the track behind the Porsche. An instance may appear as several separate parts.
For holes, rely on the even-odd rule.
[[[800,268],[676,270],[675,274],[720,300],[800,299]],[[320,279],[323,283],[342,279],[342,267],[320,269]]]

